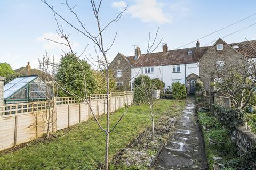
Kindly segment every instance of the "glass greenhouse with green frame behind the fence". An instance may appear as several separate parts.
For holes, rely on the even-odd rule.
[[[4,103],[25,103],[45,100],[45,83],[37,76],[18,77],[4,86]]]

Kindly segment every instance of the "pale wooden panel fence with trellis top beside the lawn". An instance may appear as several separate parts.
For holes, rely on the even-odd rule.
[[[110,112],[114,112],[131,105],[133,94],[111,92],[109,99]],[[50,114],[51,132],[87,121],[92,117],[92,112],[97,116],[106,114],[106,94],[90,95],[88,100],[92,111],[87,102],[70,97],[55,98],[53,107],[49,107],[47,101],[0,106],[0,151],[42,137],[47,132],[49,112],[53,113]]]

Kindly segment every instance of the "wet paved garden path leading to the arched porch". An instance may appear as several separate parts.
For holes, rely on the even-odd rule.
[[[203,137],[194,109],[194,96],[189,96],[186,108],[175,124],[175,132],[159,155],[155,169],[207,169]]]

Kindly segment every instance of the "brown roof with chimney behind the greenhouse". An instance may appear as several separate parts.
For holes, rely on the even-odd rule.
[[[28,62],[26,67],[20,67],[14,70],[16,73],[22,76],[38,75],[43,81],[47,83],[53,83],[52,76],[38,69],[31,69],[30,62]]]

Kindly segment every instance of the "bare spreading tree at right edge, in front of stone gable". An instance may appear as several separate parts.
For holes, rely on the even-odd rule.
[[[231,98],[233,107],[244,109],[256,86],[256,60],[246,55],[216,58],[208,61],[202,71],[211,77],[214,91]]]

